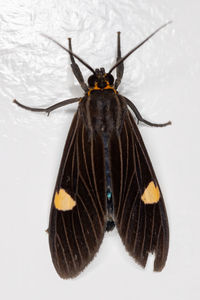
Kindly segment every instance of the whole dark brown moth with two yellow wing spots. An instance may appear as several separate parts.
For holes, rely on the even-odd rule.
[[[121,57],[120,32],[114,66],[93,69],[69,49],[51,39],[70,55],[72,71],[84,96],[64,100],[48,108],[32,108],[14,100],[20,107],[50,114],[53,110],[78,102],[53,195],[49,219],[49,245],[52,261],[62,278],[77,276],[94,258],[104,233],[115,226],[129,254],[145,267],[154,253],[154,271],[165,265],[169,228],[163,196],[136,122],[164,127],[145,120],[118,87],[124,61],[147,42]],[[75,58],[92,75],[85,83]],[[116,69],[116,79],[112,75]]]

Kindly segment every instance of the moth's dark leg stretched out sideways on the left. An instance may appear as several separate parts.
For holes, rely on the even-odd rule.
[[[56,103],[56,104],[54,104],[52,106],[49,106],[47,108],[33,108],[33,107],[29,107],[29,106],[21,104],[16,99],[13,100],[13,102],[15,104],[17,104],[18,106],[26,109],[26,110],[35,111],[35,112],[46,112],[47,115],[49,115],[50,112],[52,112],[53,110],[55,110],[55,109],[57,109],[59,107],[62,107],[62,106],[65,106],[65,105],[68,105],[68,104],[71,104],[71,103],[74,103],[74,102],[78,102],[80,100],[81,100],[81,98],[72,98],[72,99],[68,99],[68,100],[64,100],[64,101],[58,102],[58,103]]]

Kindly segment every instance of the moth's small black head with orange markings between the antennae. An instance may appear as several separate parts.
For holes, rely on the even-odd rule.
[[[88,78],[89,88],[96,86],[100,89],[104,89],[108,85],[113,86],[113,82],[114,77],[109,73],[105,73],[104,68],[96,69],[95,74]]]

